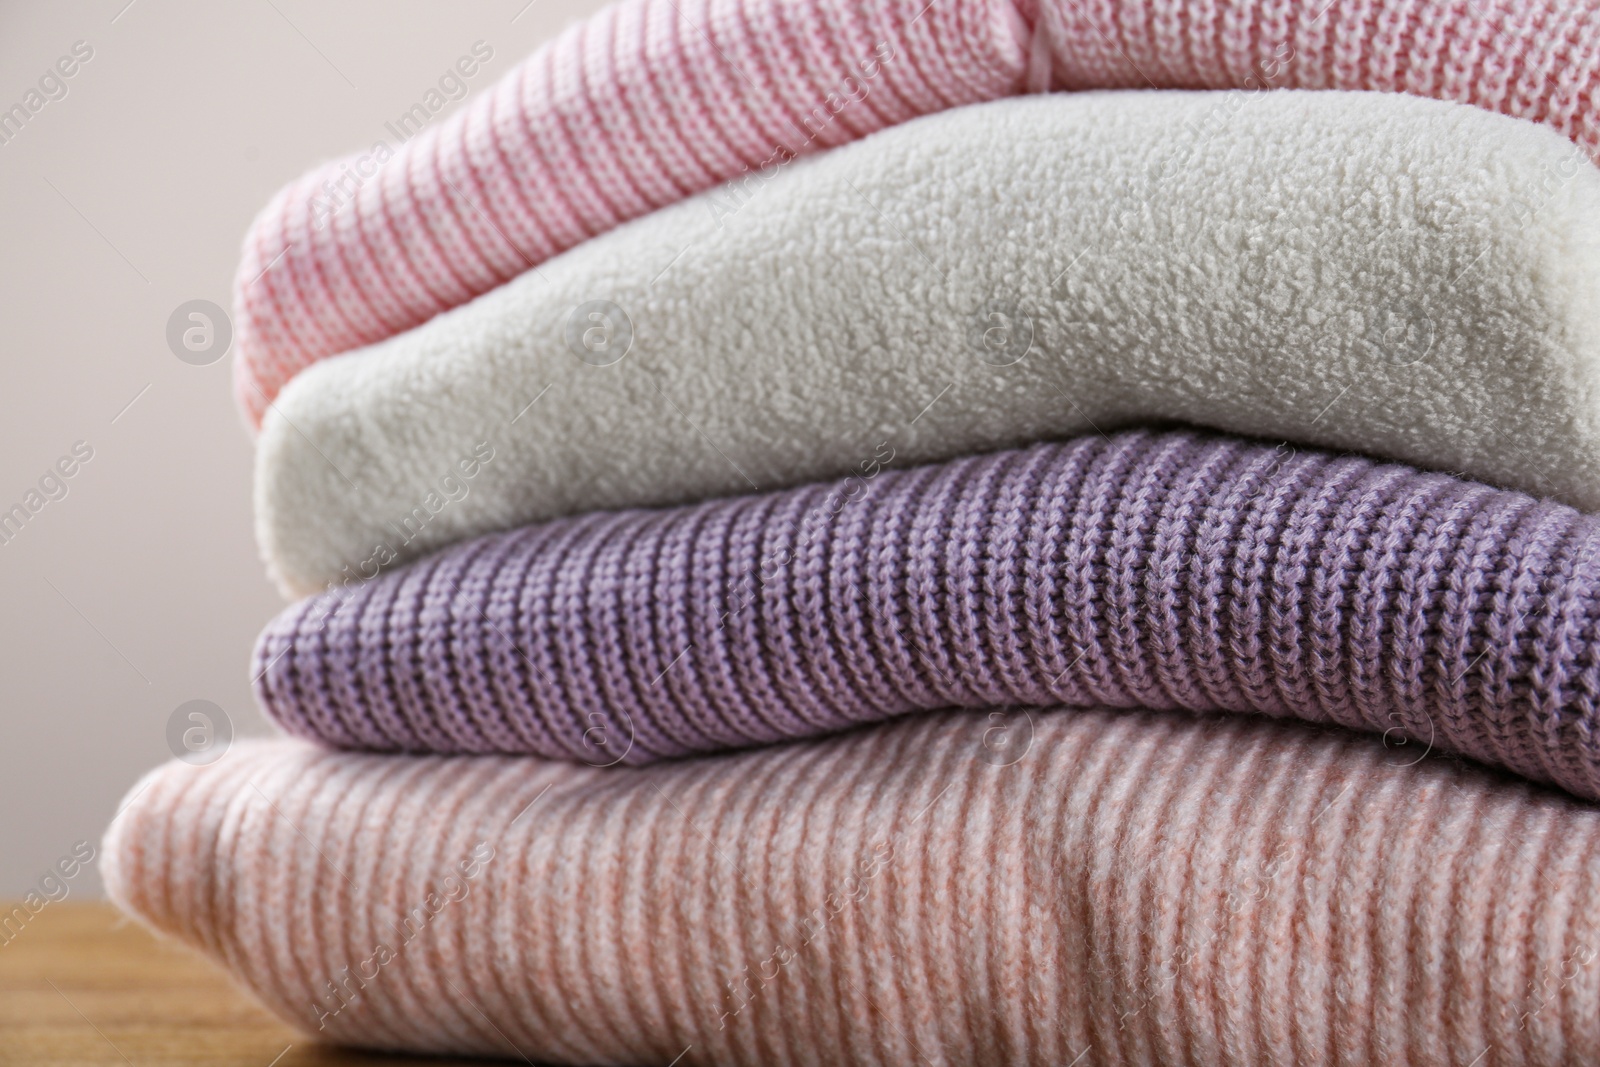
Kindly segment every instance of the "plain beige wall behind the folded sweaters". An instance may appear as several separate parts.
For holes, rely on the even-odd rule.
[[[282,601],[256,558],[230,357],[181,362],[168,317],[230,307],[245,226],[278,186],[370,146],[475,42],[494,50],[482,90],[598,6],[0,3],[0,109],[93,50],[0,144],[0,510],[93,450],[0,544],[0,897],[98,846],[171,757],[181,704],[270,729],[248,665]],[[70,883],[99,891],[93,864]]]

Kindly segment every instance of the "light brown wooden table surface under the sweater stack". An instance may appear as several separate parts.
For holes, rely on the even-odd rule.
[[[0,1064],[448,1067],[483,1061],[317,1045],[187,949],[157,941],[107,904],[62,901],[0,945]]]

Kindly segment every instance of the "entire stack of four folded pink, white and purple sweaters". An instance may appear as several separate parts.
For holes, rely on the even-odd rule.
[[[1595,154],[1590,0],[608,8],[254,222],[293,739],[110,894],[370,1048],[1600,1062]]]

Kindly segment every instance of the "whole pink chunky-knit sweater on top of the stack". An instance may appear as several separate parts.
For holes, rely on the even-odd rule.
[[[1597,80],[1594,0],[634,0],[448,118],[432,120],[432,94],[285,187],[245,238],[237,395],[259,424],[310,362],[622,221],[1029,88],[1414,93],[1544,123],[1595,155]]]

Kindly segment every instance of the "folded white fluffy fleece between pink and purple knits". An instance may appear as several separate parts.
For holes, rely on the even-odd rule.
[[[1022,98],[309,368],[262,427],[258,534],[309,593],[558,515],[1152,419],[1600,509],[1597,374],[1600,171],[1549,130],[1378,93]]]

